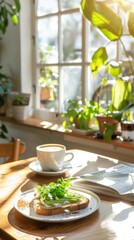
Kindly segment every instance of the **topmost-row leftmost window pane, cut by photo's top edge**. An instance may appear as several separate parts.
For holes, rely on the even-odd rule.
[[[44,3],[45,2],[45,3]],[[37,16],[43,16],[58,11],[58,0],[38,0]]]

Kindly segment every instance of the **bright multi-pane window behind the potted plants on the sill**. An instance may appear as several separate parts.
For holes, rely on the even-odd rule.
[[[79,5],[79,0],[35,0],[35,109],[41,112],[63,112],[69,99],[91,99],[101,81],[93,79],[89,63],[108,41],[82,17]],[[132,41],[124,37],[129,51]],[[126,60],[120,45],[113,42],[107,50],[111,59]]]

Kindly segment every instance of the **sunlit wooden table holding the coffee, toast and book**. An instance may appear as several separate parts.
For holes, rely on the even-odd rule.
[[[91,166],[99,158],[89,152],[72,150],[75,158],[88,159]],[[73,222],[47,223],[21,215],[13,206],[15,197],[41,183],[55,181],[32,172],[28,165],[35,158],[0,166],[0,237],[5,240],[134,240],[134,206],[120,199],[99,195],[100,206],[93,214]],[[106,160],[105,166],[114,164]],[[63,177],[67,177],[64,175]]]

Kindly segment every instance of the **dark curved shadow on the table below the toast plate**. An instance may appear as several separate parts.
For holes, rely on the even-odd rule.
[[[73,235],[77,235],[78,232],[82,234],[82,232],[85,232],[86,229],[88,231],[88,228],[92,228],[98,218],[99,211],[96,211],[89,217],[85,217],[73,222],[50,223],[26,218],[25,216],[21,215],[15,208],[12,208],[8,214],[8,220],[14,228],[29,235],[41,237],[36,238],[37,240],[43,240],[50,236],[54,239],[56,239],[56,237],[66,237],[71,233],[73,233]]]

